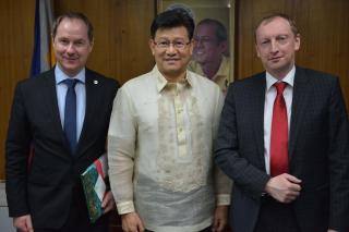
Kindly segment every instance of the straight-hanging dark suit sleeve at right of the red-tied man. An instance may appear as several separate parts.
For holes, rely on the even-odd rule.
[[[329,100],[329,229],[349,231],[349,125],[339,81]]]

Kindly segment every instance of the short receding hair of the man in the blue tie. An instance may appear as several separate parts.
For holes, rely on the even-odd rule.
[[[59,24],[64,20],[64,19],[70,19],[70,20],[82,20],[86,26],[87,26],[87,36],[88,36],[88,40],[92,42],[94,40],[94,27],[92,25],[92,23],[89,22],[89,20],[86,17],[85,14],[80,13],[80,12],[68,12],[64,13],[60,16],[58,16],[55,22],[53,22],[53,26],[52,26],[52,37],[55,38],[57,35],[57,28],[59,26]]]

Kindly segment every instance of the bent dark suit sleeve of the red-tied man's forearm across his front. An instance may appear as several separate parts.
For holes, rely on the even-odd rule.
[[[252,166],[245,157],[239,154],[241,125],[238,124],[234,87],[236,83],[229,86],[222,108],[215,146],[215,161],[233,180],[234,185],[239,185],[248,195],[257,199],[264,192],[269,175]]]

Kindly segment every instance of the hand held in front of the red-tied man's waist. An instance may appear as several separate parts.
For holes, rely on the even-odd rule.
[[[265,186],[265,192],[280,203],[291,203],[300,194],[302,181],[284,173],[272,178]]]

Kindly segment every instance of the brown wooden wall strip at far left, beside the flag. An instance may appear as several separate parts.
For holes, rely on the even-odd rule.
[[[13,90],[31,70],[34,15],[35,0],[0,1],[0,180],[4,179],[4,142]]]

